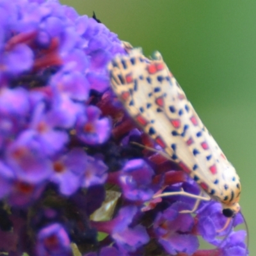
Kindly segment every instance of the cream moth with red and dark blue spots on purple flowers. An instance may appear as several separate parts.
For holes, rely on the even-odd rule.
[[[223,214],[240,211],[235,168],[207,131],[159,52],[152,60],[129,49],[108,65],[111,87],[127,113],[170,159],[221,202]]]

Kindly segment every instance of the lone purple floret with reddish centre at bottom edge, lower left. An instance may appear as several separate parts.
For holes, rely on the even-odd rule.
[[[59,223],[42,228],[37,236],[36,252],[38,256],[71,256],[70,239],[65,229]]]

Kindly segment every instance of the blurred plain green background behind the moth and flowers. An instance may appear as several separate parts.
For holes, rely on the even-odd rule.
[[[62,0],[119,38],[158,50],[241,177],[256,255],[256,1]]]

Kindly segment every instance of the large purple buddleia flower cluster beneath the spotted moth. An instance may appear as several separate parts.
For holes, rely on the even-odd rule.
[[[131,143],[154,147],[110,88],[108,63],[126,51],[58,1],[0,0],[0,252],[246,255],[240,214],[219,232],[219,203],[182,214],[195,199],[155,196],[200,189]],[[200,236],[215,248],[200,250]]]

